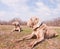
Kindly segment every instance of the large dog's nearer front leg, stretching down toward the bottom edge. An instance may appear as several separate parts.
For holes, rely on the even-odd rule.
[[[36,35],[37,39],[29,44],[29,47],[33,48],[37,43],[44,40],[44,33],[43,30],[38,31],[38,34]]]

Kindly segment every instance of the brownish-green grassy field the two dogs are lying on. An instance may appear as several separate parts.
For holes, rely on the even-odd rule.
[[[22,26],[22,32],[11,32],[14,26],[0,25],[0,49],[29,49],[28,44],[35,39],[14,43],[13,41],[20,39],[32,32],[31,28]],[[60,28],[52,28],[59,34],[58,37],[46,39],[42,43],[35,46],[35,49],[60,49]]]

